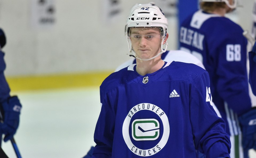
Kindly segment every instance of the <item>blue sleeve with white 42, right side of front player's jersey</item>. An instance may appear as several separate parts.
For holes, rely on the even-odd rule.
[[[206,157],[229,157],[230,138],[225,122],[212,107],[209,75],[205,71],[190,95],[190,120],[195,148]]]

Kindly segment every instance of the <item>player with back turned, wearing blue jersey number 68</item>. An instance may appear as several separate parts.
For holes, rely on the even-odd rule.
[[[243,157],[243,144],[247,157],[256,143],[255,124],[250,122],[256,119],[256,109],[251,108],[248,91],[247,40],[242,28],[225,17],[236,1],[201,0],[200,7],[181,24],[180,47],[198,57],[209,73],[213,102],[230,134],[230,156]]]

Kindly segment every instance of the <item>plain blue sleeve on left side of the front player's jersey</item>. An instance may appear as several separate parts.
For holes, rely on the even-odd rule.
[[[94,132],[96,146],[92,158],[111,158],[115,126],[115,112],[111,105],[112,97],[110,92],[105,93],[100,88],[102,107]]]

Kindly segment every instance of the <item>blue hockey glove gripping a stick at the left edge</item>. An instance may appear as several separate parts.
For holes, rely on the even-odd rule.
[[[21,103],[17,96],[10,97],[2,103],[3,123],[0,124],[0,133],[5,134],[4,141],[13,138],[19,126],[19,115],[21,113]]]

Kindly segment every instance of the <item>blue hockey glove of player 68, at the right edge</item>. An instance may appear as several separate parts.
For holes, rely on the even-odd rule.
[[[242,130],[243,150],[256,148],[256,108],[252,108],[239,118]]]

